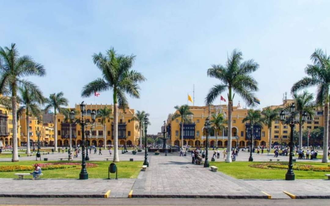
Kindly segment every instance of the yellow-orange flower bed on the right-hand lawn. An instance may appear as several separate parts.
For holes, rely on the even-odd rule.
[[[260,164],[250,164],[250,167],[260,168],[260,169],[281,169],[287,170],[287,163],[260,163]],[[300,171],[315,171],[315,172],[330,172],[330,166],[327,167],[315,167],[310,164],[298,164],[293,166],[294,170]]]

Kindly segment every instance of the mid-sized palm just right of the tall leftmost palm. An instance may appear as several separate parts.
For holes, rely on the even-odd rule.
[[[30,134],[29,134],[29,117],[38,117],[41,114],[39,105],[45,103],[45,98],[42,92],[36,88],[35,93],[31,93],[26,87],[18,88],[21,94],[20,103],[23,104],[19,110],[25,109],[26,116],[26,153],[30,154]]]

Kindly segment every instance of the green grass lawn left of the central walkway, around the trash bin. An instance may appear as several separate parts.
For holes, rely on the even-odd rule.
[[[20,161],[20,162],[0,162],[0,166],[10,166],[10,165],[28,165],[36,163],[37,161]],[[38,161],[40,163],[47,163],[53,161]],[[56,161],[58,162],[58,161]],[[67,161],[63,161],[67,162]],[[90,163],[98,164],[98,167],[87,168],[88,178],[108,178],[108,167],[111,162],[105,161],[91,161]],[[116,162],[118,170],[118,178],[136,178],[139,175],[143,162]],[[42,168],[41,168],[42,169]],[[77,168],[69,169],[53,169],[53,170],[43,170],[44,174],[42,178],[52,178],[52,179],[77,179],[79,178],[79,173],[81,166]],[[19,172],[0,172],[0,178],[17,178],[14,173],[30,173],[32,171],[19,171]],[[115,173],[110,173],[110,177],[115,177]]]

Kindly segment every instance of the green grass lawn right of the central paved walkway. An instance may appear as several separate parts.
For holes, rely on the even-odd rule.
[[[249,165],[254,163],[265,162],[210,162],[210,165],[218,167],[218,171],[221,171],[229,176],[237,179],[284,179],[286,170],[280,169],[262,169],[252,168]],[[269,163],[269,162],[267,162]],[[294,162],[295,164],[311,164],[317,166],[327,166],[329,163],[313,163],[313,162]],[[296,179],[327,179],[324,174],[330,172],[314,172],[314,171],[294,171]]]

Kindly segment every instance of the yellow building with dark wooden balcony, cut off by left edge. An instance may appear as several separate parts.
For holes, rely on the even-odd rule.
[[[20,124],[17,122],[17,145],[21,145]],[[13,145],[13,116],[12,111],[0,105],[0,147]]]

